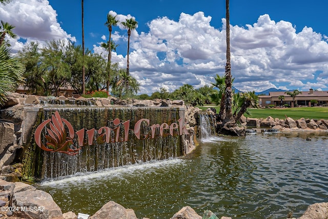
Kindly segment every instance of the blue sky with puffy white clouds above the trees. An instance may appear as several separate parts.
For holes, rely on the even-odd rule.
[[[241,91],[269,88],[328,90],[328,1],[230,0],[231,73]],[[107,14],[138,22],[130,40],[130,73],[138,94],[183,84],[195,89],[223,76],[226,65],[224,0],[85,0],[85,45],[107,57]],[[80,0],[13,0],[0,19],[15,26],[17,52],[32,41],[69,39],[81,45]],[[127,65],[127,30],[113,27],[112,63]]]

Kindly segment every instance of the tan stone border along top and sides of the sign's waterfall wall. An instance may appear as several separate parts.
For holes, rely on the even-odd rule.
[[[35,96],[9,93],[8,101],[0,110],[0,178],[17,182],[22,178],[24,146],[31,141],[33,126],[40,108],[54,107],[172,107],[184,108],[186,128],[190,134],[182,136],[183,154],[196,146],[195,113],[198,108],[187,107],[183,101],[170,99],[138,100],[108,98],[66,98],[65,96]],[[182,115],[179,115],[180,117]],[[34,127],[35,128],[35,127]]]

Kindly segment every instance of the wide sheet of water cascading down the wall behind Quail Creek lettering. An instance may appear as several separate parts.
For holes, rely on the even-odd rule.
[[[51,152],[30,144],[25,153],[25,178],[58,178],[183,155],[184,136],[179,118],[184,123],[184,108],[44,107],[39,111],[39,124],[50,121],[56,111],[66,121],[64,126],[70,123],[74,130],[80,130],[69,140],[73,143],[71,147],[79,150],[67,154],[69,150]],[[48,129],[43,128],[40,142],[50,141],[47,135],[53,127],[50,124]],[[66,132],[68,136],[70,132]]]

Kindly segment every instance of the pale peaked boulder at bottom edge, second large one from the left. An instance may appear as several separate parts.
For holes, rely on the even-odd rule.
[[[110,201],[101,207],[91,219],[137,219],[134,211],[132,209],[125,209],[123,206]]]

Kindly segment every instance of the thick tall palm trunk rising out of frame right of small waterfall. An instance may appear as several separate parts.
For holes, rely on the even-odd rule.
[[[232,76],[231,76],[231,63],[230,63],[230,13],[229,13],[229,0],[226,0],[226,36],[227,36],[227,64],[226,64],[226,91],[224,97],[224,105],[226,109],[225,122],[234,122],[232,114]]]

